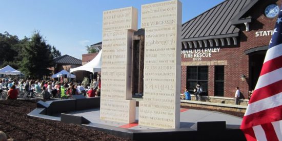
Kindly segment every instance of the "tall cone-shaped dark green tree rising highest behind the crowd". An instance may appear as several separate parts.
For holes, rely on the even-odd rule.
[[[52,67],[53,55],[51,46],[47,45],[42,35],[35,31],[29,42],[26,42],[22,52],[22,62],[20,70],[26,76],[42,78],[50,75],[47,68]]]

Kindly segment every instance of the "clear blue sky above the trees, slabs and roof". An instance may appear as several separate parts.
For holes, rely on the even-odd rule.
[[[185,23],[224,0],[180,0]],[[85,46],[102,41],[103,11],[124,7],[138,9],[160,0],[0,0],[0,33],[8,31],[19,39],[35,30],[62,55],[82,58]]]

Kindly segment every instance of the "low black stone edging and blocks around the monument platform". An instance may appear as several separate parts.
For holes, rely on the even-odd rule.
[[[69,112],[79,112],[87,109],[96,109],[94,111],[97,111],[99,110],[99,105],[100,97],[76,97],[76,99],[48,102],[39,101],[37,108],[28,115],[51,120],[61,120],[63,123],[77,124],[133,140],[246,140],[240,129],[227,129],[226,122],[198,122],[197,130],[192,128],[136,130],[91,123],[84,116],[68,114]],[[61,118],[52,116],[58,114],[61,114]]]

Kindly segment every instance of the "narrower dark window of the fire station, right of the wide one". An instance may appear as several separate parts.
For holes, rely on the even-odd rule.
[[[214,96],[224,96],[224,66],[214,68]]]

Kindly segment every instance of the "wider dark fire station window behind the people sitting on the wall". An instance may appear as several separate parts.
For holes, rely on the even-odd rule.
[[[202,95],[208,95],[208,66],[187,66],[187,89],[194,94],[193,90],[197,84],[202,89]]]

